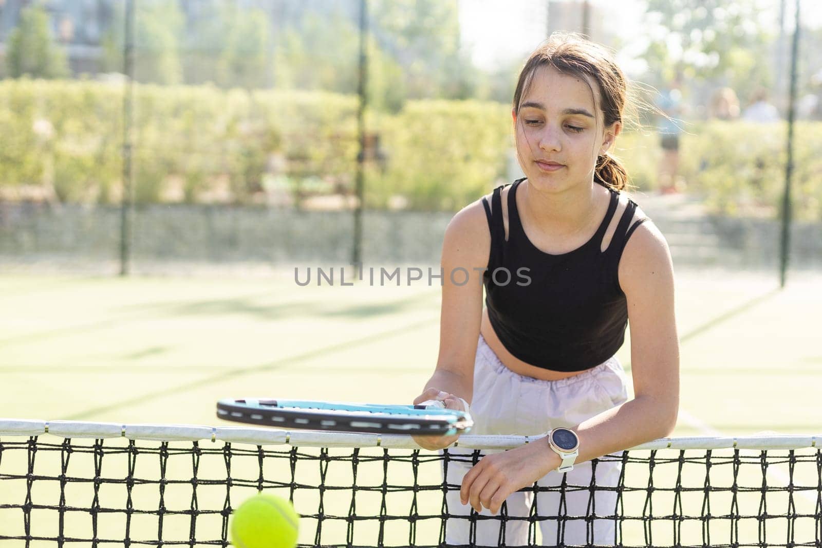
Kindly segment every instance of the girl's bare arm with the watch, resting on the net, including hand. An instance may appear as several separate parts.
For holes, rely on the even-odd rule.
[[[622,253],[619,281],[630,322],[635,399],[580,423],[580,456],[588,461],[667,436],[679,408],[679,342],[674,318],[671,254],[656,228],[644,223]],[[560,457],[547,439],[483,457],[463,479],[460,499],[493,513],[516,490],[556,470]]]

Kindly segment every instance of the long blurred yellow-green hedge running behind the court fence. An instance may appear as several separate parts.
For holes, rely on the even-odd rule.
[[[122,193],[122,84],[0,81],[0,187],[53,186],[63,202],[118,202]],[[135,86],[133,165],[137,202],[252,202],[275,179],[300,197],[353,189],[358,100],[307,91]],[[53,134],[48,135],[48,123]],[[456,210],[506,179],[510,107],[480,101],[409,101],[398,114],[369,112],[384,162],[367,169],[367,205]],[[39,132],[37,130],[39,128]],[[784,181],[784,123],[691,125],[681,175],[714,211],[776,214]],[[822,219],[822,124],[796,128],[794,213]],[[617,141],[637,188],[653,191],[662,151],[653,132]]]

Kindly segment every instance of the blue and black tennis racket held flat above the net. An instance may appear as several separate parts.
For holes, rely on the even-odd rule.
[[[295,430],[332,430],[369,434],[447,436],[465,434],[473,420],[466,411],[446,409],[430,400],[413,406],[310,402],[281,399],[224,399],[217,402],[224,420]]]

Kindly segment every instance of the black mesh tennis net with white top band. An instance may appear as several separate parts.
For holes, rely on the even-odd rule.
[[[590,527],[594,515],[614,525],[601,546],[820,546],[820,439],[660,439],[592,464],[595,478],[599,463],[621,463],[615,485],[533,485],[526,515],[504,506],[483,516],[456,511],[459,485],[443,470],[533,438],[465,435],[458,448],[428,452],[399,435],[0,420],[0,543],[228,546],[232,509],[262,490],[293,500],[299,546],[452,546],[447,529],[459,520],[470,546],[493,520],[502,527],[492,546],[512,546],[515,522],[526,546],[570,546],[565,526]],[[584,513],[538,504],[543,493],[562,505],[598,490],[615,504]],[[556,536],[543,538],[546,523]]]

